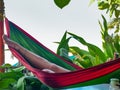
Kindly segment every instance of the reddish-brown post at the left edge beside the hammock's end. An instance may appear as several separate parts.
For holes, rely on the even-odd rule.
[[[0,66],[4,64],[4,43],[2,36],[4,34],[4,2],[0,0]],[[3,70],[0,70],[3,72]]]

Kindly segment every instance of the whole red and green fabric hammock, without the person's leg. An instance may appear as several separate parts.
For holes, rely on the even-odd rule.
[[[41,71],[29,63],[27,58],[23,57],[15,49],[10,48],[13,55],[47,86],[52,88],[74,88],[106,84],[110,82],[111,78],[120,77],[120,58],[91,68],[81,69],[79,66],[63,59],[61,56],[49,50],[30,34],[8,19],[5,19],[5,24],[7,35],[11,40],[14,40],[31,52],[46,58],[50,62],[71,70],[71,72],[67,73],[47,73]]]

